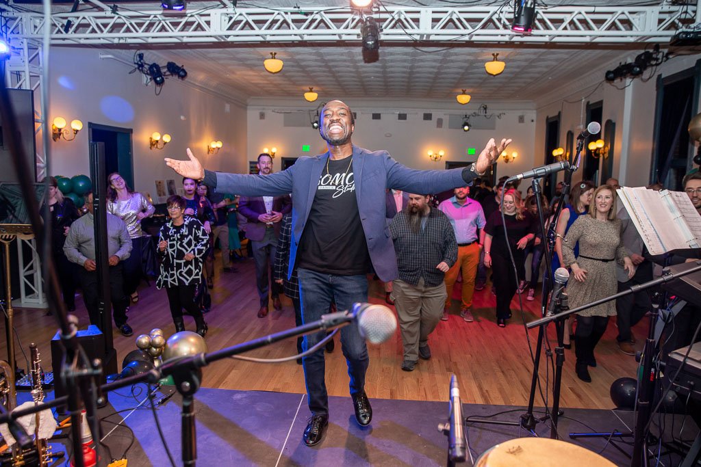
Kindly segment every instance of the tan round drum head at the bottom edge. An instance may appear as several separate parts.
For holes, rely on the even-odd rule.
[[[477,467],[615,467],[599,454],[550,438],[516,438],[502,442],[479,456]]]

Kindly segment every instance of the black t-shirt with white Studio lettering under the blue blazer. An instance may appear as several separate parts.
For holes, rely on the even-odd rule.
[[[299,242],[298,267],[342,276],[370,270],[351,159],[329,160],[321,174]]]

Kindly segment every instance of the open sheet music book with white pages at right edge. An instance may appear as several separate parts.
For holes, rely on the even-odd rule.
[[[651,254],[701,246],[701,216],[686,193],[644,186],[616,192]]]

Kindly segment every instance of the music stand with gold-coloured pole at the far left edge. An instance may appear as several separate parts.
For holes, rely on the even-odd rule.
[[[41,205],[46,192],[43,183],[34,184],[36,201]],[[22,188],[19,183],[0,183],[0,242],[4,245],[5,267],[5,298],[7,312],[5,314],[5,334],[7,337],[8,363],[17,375],[17,363],[15,362],[15,310],[12,307],[12,278],[10,274],[10,244],[18,236],[32,235],[32,225],[29,221],[29,212],[22,197]]]

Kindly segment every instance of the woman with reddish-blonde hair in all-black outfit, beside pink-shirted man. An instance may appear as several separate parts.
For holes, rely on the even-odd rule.
[[[519,280],[524,279],[526,246],[536,238],[538,223],[536,218],[526,212],[521,199],[521,192],[513,188],[503,195],[502,211],[494,211],[484,226],[484,265],[492,268],[494,286],[496,287],[496,323],[500,328],[506,326],[511,317],[511,299],[518,288]],[[506,235],[504,235],[504,223]],[[518,280],[509,255],[511,249],[518,272]]]

